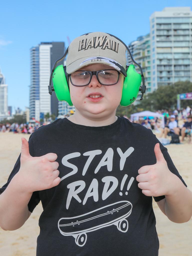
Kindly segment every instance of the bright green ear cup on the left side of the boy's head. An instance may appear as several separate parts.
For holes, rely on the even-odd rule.
[[[63,65],[56,67],[53,72],[52,81],[57,99],[60,101],[65,100],[70,106],[72,106],[73,103],[71,101]]]

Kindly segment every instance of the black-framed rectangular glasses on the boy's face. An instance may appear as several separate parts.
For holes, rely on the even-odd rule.
[[[68,74],[69,79],[74,86],[86,86],[91,82],[92,76],[95,75],[102,85],[113,85],[118,83],[120,72],[115,69],[104,69],[98,71],[75,71]]]

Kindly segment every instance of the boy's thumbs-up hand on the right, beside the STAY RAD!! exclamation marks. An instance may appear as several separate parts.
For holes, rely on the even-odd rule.
[[[175,176],[168,169],[167,162],[161,152],[159,143],[154,148],[157,163],[154,165],[142,166],[138,170],[138,187],[146,196],[169,195],[173,191],[172,180]]]

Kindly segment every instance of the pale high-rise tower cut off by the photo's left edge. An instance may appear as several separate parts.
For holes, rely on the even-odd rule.
[[[6,119],[8,114],[8,93],[7,84],[5,84],[5,77],[0,69],[0,121]]]

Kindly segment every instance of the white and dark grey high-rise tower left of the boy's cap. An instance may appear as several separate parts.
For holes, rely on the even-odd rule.
[[[30,119],[39,121],[47,113],[58,115],[58,99],[55,93],[48,93],[48,85],[52,67],[63,56],[64,50],[64,42],[41,42],[30,49]],[[60,61],[57,65],[62,64]]]

